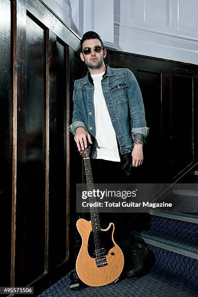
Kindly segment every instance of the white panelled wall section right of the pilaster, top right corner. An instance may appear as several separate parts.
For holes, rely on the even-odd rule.
[[[198,0],[114,0],[117,49],[198,64]]]

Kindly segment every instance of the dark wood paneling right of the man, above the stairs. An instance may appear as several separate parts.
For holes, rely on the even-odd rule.
[[[198,163],[198,66],[111,50],[106,61],[131,69],[140,84],[150,128],[141,181],[178,180]]]

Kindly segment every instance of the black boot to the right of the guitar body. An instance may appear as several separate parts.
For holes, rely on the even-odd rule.
[[[148,249],[137,240],[129,240],[121,245],[124,254],[124,275],[130,279],[139,279],[143,270],[144,261],[148,254]]]

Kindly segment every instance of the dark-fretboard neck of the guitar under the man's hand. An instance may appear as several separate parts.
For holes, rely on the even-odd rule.
[[[84,161],[84,168],[85,168],[85,174],[86,174],[86,183],[87,183],[87,189],[88,191],[94,190],[94,183],[93,183],[93,176],[92,176],[92,170],[91,170],[91,163],[89,156],[83,157]],[[96,197],[89,197],[89,203],[97,203]],[[89,204],[90,205],[90,204]],[[93,231],[100,231],[100,222],[99,222],[99,212],[97,206],[89,207],[90,213],[91,213],[91,223],[92,223],[92,230]]]

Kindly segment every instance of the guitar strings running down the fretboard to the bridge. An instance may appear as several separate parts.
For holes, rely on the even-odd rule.
[[[86,155],[86,158],[88,158],[88,159],[84,159],[86,178],[87,178],[87,181],[88,181],[88,175],[90,175],[89,182],[92,180],[91,181],[92,182],[92,187],[94,187],[94,185],[93,185],[93,178],[92,178],[92,171],[91,171],[91,164],[90,164],[90,158],[88,156],[87,150],[85,151],[85,155]],[[89,170],[90,173],[88,173],[88,170]],[[87,182],[87,187],[88,187],[88,190],[93,190],[93,188],[91,187],[91,185],[88,182]],[[92,198],[92,200],[94,200],[93,197],[91,197],[91,198]],[[91,198],[89,198],[89,201],[91,201]],[[92,202],[94,202],[94,201],[92,201]],[[94,211],[90,208],[90,211],[91,211],[91,221],[92,221],[92,230],[93,229],[96,229],[96,230],[93,230],[94,239],[95,239],[95,247],[96,247],[96,256],[97,257],[100,257],[101,256],[100,250],[102,249],[102,243],[101,243],[101,237],[100,237],[99,232],[101,232],[101,227],[100,227],[100,223],[99,223],[98,209],[97,209],[97,207],[94,207],[94,208],[96,209],[97,214],[94,214],[93,213]],[[94,218],[94,215],[97,216],[97,219]],[[94,219],[95,219],[95,221],[94,221]],[[94,223],[95,223],[95,226],[94,226]],[[98,226],[98,224],[99,224],[99,226]],[[97,230],[98,228],[100,230]]]

